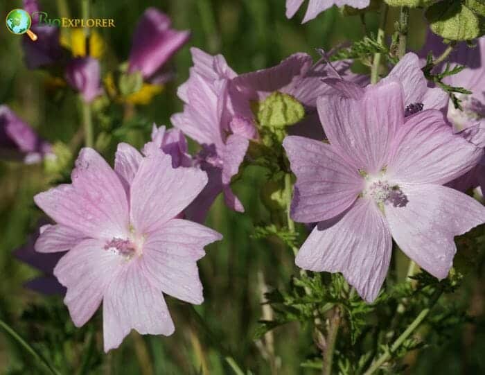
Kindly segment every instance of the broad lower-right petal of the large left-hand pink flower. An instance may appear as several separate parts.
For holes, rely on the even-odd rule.
[[[204,246],[222,238],[218,232],[188,220],[174,219],[148,236],[143,245],[143,272],[164,293],[201,304],[202,284],[197,260]]]

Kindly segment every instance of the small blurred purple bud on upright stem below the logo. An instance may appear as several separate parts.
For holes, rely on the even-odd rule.
[[[85,102],[99,96],[101,89],[101,68],[94,58],[74,58],[66,66],[66,80],[69,85],[79,91]]]

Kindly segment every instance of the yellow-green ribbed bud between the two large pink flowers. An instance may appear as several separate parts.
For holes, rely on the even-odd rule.
[[[279,91],[257,103],[256,119],[262,127],[281,129],[301,121],[304,116],[303,105],[293,96]]]

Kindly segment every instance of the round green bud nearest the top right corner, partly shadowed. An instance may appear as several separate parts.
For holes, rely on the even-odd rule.
[[[433,33],[448,40],[470,40],[480,35],[480,19],[460,1],[441,1],[427,8]]]

